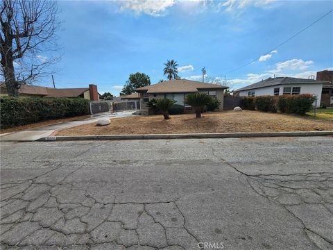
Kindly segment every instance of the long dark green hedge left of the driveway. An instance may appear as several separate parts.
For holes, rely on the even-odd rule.
[[[1,97],[1,128],[49,119],[89,115],[89,100],[83,98]]]

